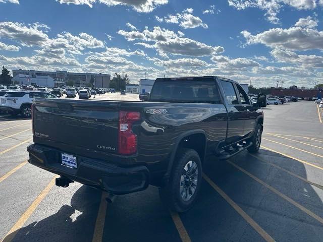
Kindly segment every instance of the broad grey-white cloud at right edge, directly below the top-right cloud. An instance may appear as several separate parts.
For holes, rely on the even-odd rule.
[[[256,35],[244,30],[241,34],[245,37],[246,44],[265,44],[272,48],[278,47],[290,50],[323,49],[323,31],[316,29],[275,28]]]

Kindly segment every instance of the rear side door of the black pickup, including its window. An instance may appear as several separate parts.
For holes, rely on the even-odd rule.
[[[244,135],[244,120],[241,115],[241,105],[234,83],[227,79],[220,79],[224,91],[224,98],[228,109],[227,143],[239,141]]]

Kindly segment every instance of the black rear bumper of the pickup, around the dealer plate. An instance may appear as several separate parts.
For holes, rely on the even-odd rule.
[[[142,191],[149,185],[146,166],[121,167],[72,154],[77,158],[77,168],[70,168],[61,164],[61,154],[69,152],[36,144],[28,146],[27,151],[30,164],[112,194]]]

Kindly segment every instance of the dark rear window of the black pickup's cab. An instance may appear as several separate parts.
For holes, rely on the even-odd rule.
[[[154,83],[150,101],[221,103],[221,98],[213,79],[170,79]]]

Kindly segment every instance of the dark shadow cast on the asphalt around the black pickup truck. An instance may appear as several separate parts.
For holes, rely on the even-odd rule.
[[[260,150],[256,156],[307,179],[304,165],[296,160],[267,150]],[[323,194],[322,190],[247,152],[230,159],[230,162],[323,217],[323,204],[318,196]],[[230,162],[210,158],[204,164],[204,172],[261,228],[276,241],[321,241],[322,223]],[[92,241],[100,196],[100,191],[82,186],[73,195],[71,206],[61,206],[55,214],[8,235],[4,242]],[[48,210],[55,211],[50,207]],[[80,215],[74,218],[72,215],[76,211]],[[192,241],[263,240],[205,180],[196,204],[180,214],[180,218]],[[11,240],[13,235],[15,237]],[[181,241],[181,238],[169,210],[159,201],[158,189],[149,187],[141,193],[119,196],[113,204],[107,205],[102,241],[108,240]]]

